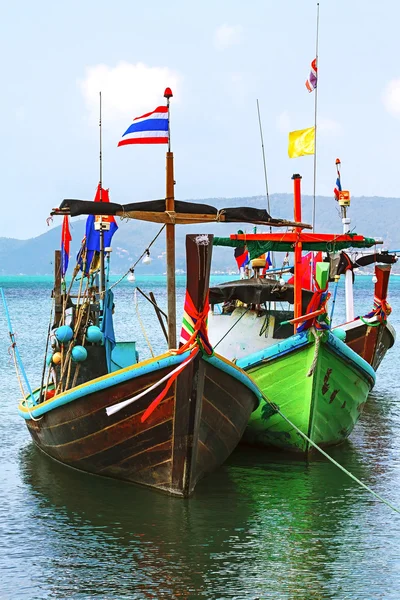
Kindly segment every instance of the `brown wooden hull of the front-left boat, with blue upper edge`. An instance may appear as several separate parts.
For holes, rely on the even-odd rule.
[[[162,387],[107,415],[108,407],[168,376],[178,358],[158,357],[71,389],[38,405],[33,416],[39,420],[30,418],[26,403],[20,413],[33,441],[52,458],[188,497],[236,447],[258,400],[240,369],[198,355],[144,423],[141,417]]]

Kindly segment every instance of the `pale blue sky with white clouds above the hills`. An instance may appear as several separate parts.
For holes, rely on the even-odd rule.
[[[265,194],[257,99],[270,193],[290,193],[300,173],[312,194],[314,159],[289,159],[287,144],[314,124],[305,81],[316,15],[314,0],[8,3],[0,237],[44,233],[63,198],[94,198],[100,91],[114,202],[165,196],[166,147],[117,144],[133,118],[164,104],[166,86],[177,199]],[[340,158],[353,196],[400,197],[399,21],[395,0],[320,0],[317,195],[333,198]]]

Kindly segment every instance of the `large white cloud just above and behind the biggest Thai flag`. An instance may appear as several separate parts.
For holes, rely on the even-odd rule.
[[[168,67],[149,67],[143,63],[119,62],[115,67],[99,64],[86,69],[78,81],[89,114],[99,116],[99,92],[103,118],[107,121],[133,119],[164,103],[164,90],[170,87],[179,100],[181,76]]]

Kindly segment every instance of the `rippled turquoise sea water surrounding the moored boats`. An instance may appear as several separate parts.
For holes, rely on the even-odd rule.
[[[214,277],[214,281],[221,277]],[[225,278],[226,279],[226,278]],[[165,281],[136,282],[165,308]],[[51,278],[0,279],[32,385],[40,380]],[[179,278],[178,305],[183,304]],[[359,277],[358,312],[371,308]],[[400,331],[400,278],[391,321]],[[134,286],[115,289],[116,333],[150,355]],[[343,288],[336,303],[343,319]],[[139,310],[155,353],[165,349],[151,306]],[[400,598],[400,515],[324,458],[238,449],[189,501],[76,472],[31,443],[0,307],[0,599]],[[400,349],[390,350],[350,440],[330,454],[400,505]]]

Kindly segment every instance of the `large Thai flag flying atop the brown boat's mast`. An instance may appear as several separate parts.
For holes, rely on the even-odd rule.
[[[137,117],[125,131],[118,146],[127,144],[167,144],[168,107],[159,106],[153,112]]]

